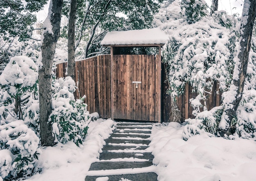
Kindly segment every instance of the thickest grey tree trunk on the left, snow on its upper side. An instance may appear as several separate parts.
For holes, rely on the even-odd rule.
[[[49,115],[52,113],[52,66],[56,42],[60,34],[61,10],[63,0],[51,0],[48,17],[44,22],[42,38],[42,64],[39,69],[39,108],[40,136],[42,146],[54,146],[52,124]],[[52,29],[50,29],[52,25]]]

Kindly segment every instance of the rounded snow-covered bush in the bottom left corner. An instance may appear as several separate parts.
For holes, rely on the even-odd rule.
[[[8,179],[32,174],[38,160],[39,138],[22,120],[0,125],[0,176]],[[8,151],[7,151],[8,150]]]

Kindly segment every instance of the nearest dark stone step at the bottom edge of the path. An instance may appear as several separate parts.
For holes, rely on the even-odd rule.
[[[100,176],[103,177],[103,176]],[[95,181],[99,176],[87,176],[85,181]],[[108,181],[120,181],[123,179],[128,179],[130,181],[157,181],[157,174],[150,173],[139,173],[139,174],[122,174],[122,175],[109,175]],[[107,180],[107,179],[106,179]]]

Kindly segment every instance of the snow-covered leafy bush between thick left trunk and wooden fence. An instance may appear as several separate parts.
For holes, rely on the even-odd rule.
[[[58,141],[73,141],[80,146],[85,139],[89,118],[87,104],[82,99],[74,99],[75,82],[71,77],[56,79],[56,93],[52,102],[53,112],[49,121],[52,122],[53,133]]]

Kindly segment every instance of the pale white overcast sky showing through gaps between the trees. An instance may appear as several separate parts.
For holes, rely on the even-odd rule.
[[[211,0],[206,0],[211,7]],[[242,14],[244,0],[219,0],[218,10],[225,10],[229,14],[239,13]],[[45,8],[42,11],[37,13],[37,18],[39,22],[42,22],[47,17],[49,2],[45,5]]]

